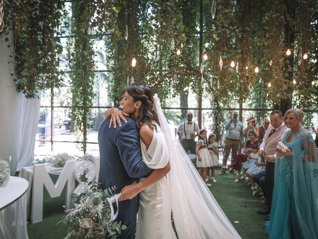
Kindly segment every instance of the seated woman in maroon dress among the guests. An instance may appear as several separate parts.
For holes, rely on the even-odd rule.
[[[255,132],[250,131],[248,134],[249,140],[247,140],[245,144],[245,148],[243,150],[244,153],[239,153],[235,157],[233,163],[231,163],[226,169],[234,168],[238,170],[238,178],[234,182],[239,182],[241,179],[240,170],[242,168],[242,163],[247,160],[248,155],[252,152],[252,146],[258,146],[258,142],[256,140]],[[257,157],[258,158],[258,157]],[[257,160],[256,158],[256,160]],[[246,173],[246,169],[244,169],[244,174]]]

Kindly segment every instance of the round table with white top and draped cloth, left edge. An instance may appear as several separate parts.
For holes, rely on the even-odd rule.
[[[26,194],[29,183],[11,176],[0,188],[0,238],[28,239],[26,228]]]

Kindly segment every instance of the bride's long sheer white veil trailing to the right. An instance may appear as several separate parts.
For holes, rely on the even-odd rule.
[[[154,96],[161,131],[170,153],[172,214],[180,239],[240,239],[223,210],[203,182],[178,140],[173,140],[158,95]]]

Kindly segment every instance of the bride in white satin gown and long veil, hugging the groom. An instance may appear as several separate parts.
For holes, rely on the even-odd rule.
[[[111,117],[119,122],[126,113],[136,120],[143,161],[155,169],[139,183],[124,187],[119,198],[132,199],[140,193],[136,238],[175,239],[172,209],[180,239],[239,239],[181,144],[172,139],[157,94],[141,83],[130,84],[125,91],[124,113],[113,109]],[[156,173],[163,168],[165,172],[170,169],[166,176]]]

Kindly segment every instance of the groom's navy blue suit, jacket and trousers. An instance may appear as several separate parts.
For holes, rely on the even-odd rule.
[[[127,123],[121,127],[109,128],[110,118],[104,120],[98,131],[100,168],[98,182],[100,188],[116,186],[114,193],[120,193],[126,185],[147,177],[153,170],[142,161],[140,137],[136,121],[126,117]],[[115,204],[114,204],[115,205]],[[136,215],[139,208],[139,195],[132,200],[119,202],[119,214],[115,221],[122,221],[127,229],[120,239],[133,239],[136,228]]]

